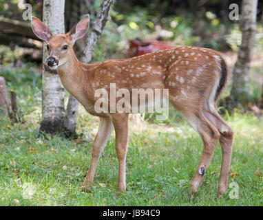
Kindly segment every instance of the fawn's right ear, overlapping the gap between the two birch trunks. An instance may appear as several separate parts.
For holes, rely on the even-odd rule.
[[[73,43],[75,43],[76,40],[81,39],[89,29],[90,24],[90,15],[86,14],[81,21],[78,21],[76,25],[68,32],[67,34],[70,35]]]

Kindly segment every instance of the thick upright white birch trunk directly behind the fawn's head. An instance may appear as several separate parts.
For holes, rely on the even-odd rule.
[[[65,0],[43,1],[43,23],[48,26],[52,34],[63,34]],[[42,91],[42,121],[40,131],[56,133],[61,130],[64,108],[64,88],[56,71],[45,65],[48,53],[43,49],[43,91]]]

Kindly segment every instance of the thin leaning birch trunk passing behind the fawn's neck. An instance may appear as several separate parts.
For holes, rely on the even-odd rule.
[[[90,63],[90,61],[92,61],[92,52],[94,51],[94,47],[101,36],[107,20],[109,19],[109,9],[111,5],[112,0],[103,0],[101,3],[101,8],[98,10],[92,30],[88,33],[86,38],[82,58],[83,63]],[[67,136],[76,134],[77,114],[78,101],[74,96],[70,95],[64,120],[64,128]]]

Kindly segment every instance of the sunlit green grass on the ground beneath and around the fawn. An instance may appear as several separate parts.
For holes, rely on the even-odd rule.
[[[40,79],[39,79],[40,80]],[[114,133],[98,162],[92,191],[81,192],[91,161],[92,134],[98,119],[78,114],[78,140],[39,135],[41,83],[8,83],[17,91],[23,123],[0,114],[0,206],[262,206],[263,118],[235,112],[225,115],[235,131],[228,192],[215,199],[220,174],[218,145],[200,191],[189,194],[189,181],[202,153],[198,134],[175,112],[170,123],[147,124],[129,131],[127,192],[116,195],[118,160]],[[30,195],[32,192],[32,195]]]

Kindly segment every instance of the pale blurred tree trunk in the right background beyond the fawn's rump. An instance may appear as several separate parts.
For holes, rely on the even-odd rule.
[[[249,68],[253,56],[256,32],[257,0],[242,1],[242,45],[233,70],[231,96],[234,102],[246,104],[249,100]]]

